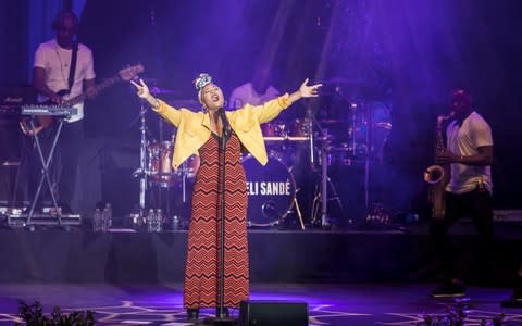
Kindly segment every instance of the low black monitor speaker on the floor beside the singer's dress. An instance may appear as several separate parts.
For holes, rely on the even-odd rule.
[[[308,303],[241,301],[239,326],[308,326]]]

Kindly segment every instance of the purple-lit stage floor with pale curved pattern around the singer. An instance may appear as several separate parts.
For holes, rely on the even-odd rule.
[[[304,301],[309,325],[423,325],[423,315],[446,315],[452,300],[428,297],[433,284],[252,284],[251,300]],[[192,325],[185,321],[181,284],[4,284],[0,289],[0,324],[17,319],[18,301],[38,300],[44,311],[92,310],[97,325]],[[522,309],[502,309],[506,288],[469,287],[465,325],[478,325],[505,313],[505,324],[522,325]],[[211,316],[202,310],[200,316]],[[232,311],[235,317],[238,311]]]

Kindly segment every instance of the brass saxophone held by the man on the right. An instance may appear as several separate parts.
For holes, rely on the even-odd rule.
[[[448,115],[437,116],[435,126],[435,158],[439,156],[445,150],[443,138],[443,123],[453,117],[453,112]],[[432,217],[442,220],[446,213],[445,188],[449,181],[448,165],[431,165],[424,172],[424,180],[428,183],[428,201],[432,204]]]

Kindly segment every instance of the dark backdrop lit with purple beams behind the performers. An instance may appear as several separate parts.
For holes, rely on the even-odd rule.
[[[2,87],[29,83],[35,49],[27,40],[44,28],[30,20],[32,5],[28,0],[0,3]],[[435,117],[447,112],[449,91],[465,87],[493,128],[495,206],[520,209],[521,7],[515,0],[87,0],[78,39],[94,51],[98,82],[142,63],[142,76],[169,89],[165,99],[173,102],[196,99],[191,80],[200,72],[210,73],[226,97],[251,79],[263,58],[282,91],[295,90],[306,77],[340,90],[300,102],[285,118],[302,116],[307,106],[318,116],[341,117],[348,112],[346,99],[385,103],[393,129],[374,175],[380,200],[395,213],[425,212],[422,173],[433,160]],[[86,110],[83,208],[110,197],[121,202],[123,214],[137,202],[128,172],[139,164],[139,102],[127,84],[119,84]],[[159,120],[148,114],[147,121],[150,136],[159,139]],[[170,138],[173,130],[163,127]],[[116,163],[107,165],[107,158]],[[358,180],[346,177],[350,173],[335,176],[348,202],[361,191]],[[307,179],[310,173],[301,166],[296,174]],[[100,183],[85,180],[92,176],[101,176]],[[303,192],[308,205],[312,195]]]

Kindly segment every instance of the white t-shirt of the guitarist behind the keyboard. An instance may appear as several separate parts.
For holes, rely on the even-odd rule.
[[[69,71],[71,70],[72,53],[73,50],[61,48],[55,39],[38,46],[34,66],[46,70],[46,85],[52,91],[58,92],[62,89],[69,89]],[[84,45],[78,45],[74,82],[71,93],[65,99],[80,95],[83,92],[84,79],[94,79],[95,77],[92,51]],[[44,102],[48,98],[38,95],[38,101]],[[78,109],[78,112],[71,116],[67,122],[79,121],[84,117],[84,103],[80,102],[74,106]]]

